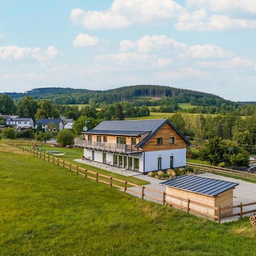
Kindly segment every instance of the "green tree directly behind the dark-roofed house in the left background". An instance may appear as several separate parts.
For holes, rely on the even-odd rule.
[[[36,119],[59,118],[60,112],[56,106],[49,100],[43,100],[39,103],[39,109],[36,111]]]

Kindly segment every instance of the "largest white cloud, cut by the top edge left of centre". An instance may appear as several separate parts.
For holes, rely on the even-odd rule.
[[[71,20],[85,28],[122,28],[135,23],[157,23],[185,12],[173,0],[114,0],[106,11],[73,9]]]

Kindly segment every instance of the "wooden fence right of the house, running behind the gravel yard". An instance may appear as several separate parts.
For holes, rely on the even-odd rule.
[[[187,166],[194,167],[200,171],[218,172],[220,174],[232,174],[233,176],[245,177],[246,179],[256,181],[256,174],[250,174],[249,172],[236,171],[233,169],[218,166],[207,166],[206,164],[197,164],[192,162],[187,162],[186,164]]]

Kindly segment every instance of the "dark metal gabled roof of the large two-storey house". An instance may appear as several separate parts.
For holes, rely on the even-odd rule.
[[[94,130],[97,130],[98,134],[127,135],[125,133],[130,133],[129,135],[131,136],[137,136],[149,132],[149,134],[137,144],[137,147],[142,147],[166,123],[168,123],[187,144],[190,144],[188,139],[185,138],[168,119],[102,121],[99,125],[94,127],[94,129],[86,131],[84,134],[93,134]],[[120,134],[117,134],[117,132]]]

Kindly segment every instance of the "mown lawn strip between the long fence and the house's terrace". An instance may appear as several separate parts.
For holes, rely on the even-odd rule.
[[[27,146],[30,148],[30,146]],[[63,148],[63,147],[51,147],[51,146],[43,146],[44,150],[41,150],[42,153],[46,153],[46,151],[61,151],[66,152],[64,156],[59,156],[60,159],[64,159],[65,161],[68,161],[69,163],[76,164],[77,166],[80,166],[82,168],[87,168],[88,170],[98,172],[99,174],[109,175],[112,177],[115,177],[117,179],[127,180],[131,183],[135,183],[137,185],[145,185],[149,184],[147,181],[137,179],[136,177],[126,177],[119,174],[114,174],[113,172],[105,171],[97,167],[89,166],[88,164],[82,164],[77,163],[74,161],[74,159],[81,159],[82,155],[84,154],[81,148]]]

